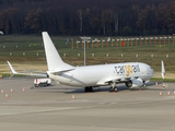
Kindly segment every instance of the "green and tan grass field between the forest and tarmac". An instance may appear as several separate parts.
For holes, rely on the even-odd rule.
[[[78,37],[51,36],[63,61],[72,66],[83,66],[82,44],[77,44]],[[155,71],[155,78],[161,78],[161,60],[164,61],[166,76],[175,79],[175,44],[173,40],[133,40],[114,43],[92,43],[86,48],[86,64],[105,64],[116,62],[145,62]],[[131,46],[132,45],[132,46]],[[73,46],[73,49],[72,49]],[[103,47],[102,47],[103,46]],[[79,47],[79,48],[77,48]],[[94,55],[94,56],[93,56]],[[122,55],[122,57],[121,57]],[[42,36],[0,36],[0,73],[9,74],[9,60],[16,70],[46,71],[46,59]]]

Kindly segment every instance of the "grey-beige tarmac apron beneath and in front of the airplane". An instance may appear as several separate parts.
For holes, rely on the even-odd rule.
[[[84,93],[83,87],[56,82],[47,87],[33,83],[26,76],[0,80],[0,130],[175,130],[175,83],[163,87],[161,82],[150,82],[141,91],[119,84],[117,93],[109,93],[108,87]]]

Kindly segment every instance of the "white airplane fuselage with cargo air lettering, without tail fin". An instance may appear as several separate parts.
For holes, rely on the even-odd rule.
[[[105,81],[107,80],[124,78],[137,76],[142,79],[142,81],[148,81],[153,74],[153,69],[145,63],[126,62],[77,67],[74,70],[60,75],[49,74],[49,78],[71,86],[100,86],[106,85]]]

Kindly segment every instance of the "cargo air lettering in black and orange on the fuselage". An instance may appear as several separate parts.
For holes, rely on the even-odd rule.
[[[117,74],[129,76],[131,73],[140,72],[139,64],[136,66],[118,66],[115,67]]]

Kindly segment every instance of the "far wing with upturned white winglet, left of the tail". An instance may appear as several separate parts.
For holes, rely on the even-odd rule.
[[[47,76],[47,72],[40,72],[40,71],[31,71],[31,72],[16,72],[14,70],[14,68],[12,67],[12,64],[7,61],[11,71],[12,71],[12,75],[10,78],[12,78],[14,74],[20,74],[20,75],[30,75],[30,76]]]

